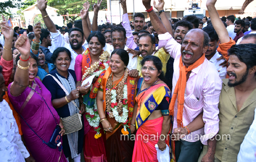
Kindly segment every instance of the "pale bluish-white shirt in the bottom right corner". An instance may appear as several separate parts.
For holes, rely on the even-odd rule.
[[[240,146],[237,162],[256,162],[256,109],[254,121]]]

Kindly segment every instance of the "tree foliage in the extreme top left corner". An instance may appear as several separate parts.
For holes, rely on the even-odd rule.
[[[3,15],[11,15],[10,12],[6,12],[6,9],[9,8],[20,8],[21,0],[5,0],[4,2],[0,2],[0,13]]]

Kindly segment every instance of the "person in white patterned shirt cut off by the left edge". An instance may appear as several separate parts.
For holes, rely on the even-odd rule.
[[[0,66],[0,157],[1,162],[35,162],[24,146],[16,120],[8,103],[3,100],[7,91]]]

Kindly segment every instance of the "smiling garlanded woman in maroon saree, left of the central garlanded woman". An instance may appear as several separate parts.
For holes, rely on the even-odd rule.
[[[75,60],[77,87],[81,86],[81,81],[85,78],[96,74],[91,87],[87,88],[83,96],[83,104],[86,105],[84,156],[86,162],[106,162],[105,137],[101,137],[104,133],[99,122],[96,95],[104,72],[108,68],[109,53],[102,50],[106,42],[99,31],[92,32],[87,40],[89,48]]]

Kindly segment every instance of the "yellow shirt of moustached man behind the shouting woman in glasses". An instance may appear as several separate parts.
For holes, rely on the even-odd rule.
[[[163,48],[161,48],[157,53],[154,54],[154,56],[157,56],[158,58],[160,58],[161,62],[162,62],[162,72],[163,72],[163,75],[165,76],[165,73],[166,73],[166,64],[167,64],[167,61],[169,60],[170,58],[170,54],[166,54],[163,50]],[[143,57],[141,56],[138,56],[138,63],[137,63],[137,70],[139,71],[139,76],[142,77],[142,74],[141,74],[141,64],[140,62],[143,60]]]

